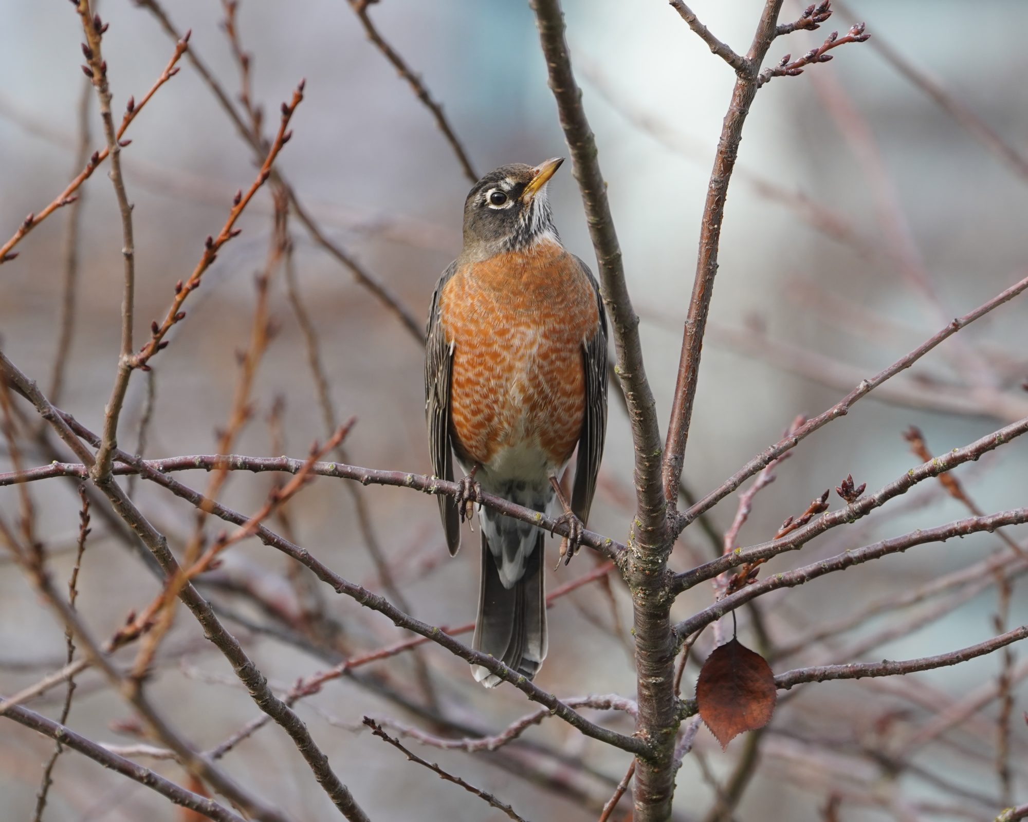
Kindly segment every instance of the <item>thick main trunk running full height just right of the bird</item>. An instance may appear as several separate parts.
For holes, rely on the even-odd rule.
[[[780,2],[780,0],[779,0]],[[653,393],[647,380],[638,317],[625,283],[621,248],[614,228],[607,183],[597,160],[596,142],[582,107],[564,38],[559,0],[533,0],[550,88],[571,149],[599,265],[600,291],[610,315],[617,366],[615,373],[628,407],[635,455],[636,513],[630,551],[622,568],[632,592],[638,715],[635,736],[649,752],[636,757],[635,822],[662,822],[671,813],[674,791],[674,734],[678,726],[673,689],[675,641],[671,631],[672,598],[667,589],[667,557],[673,546],[661,488],[661,442]],[[675,478],[677,494],[677,477]]]

